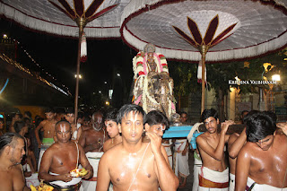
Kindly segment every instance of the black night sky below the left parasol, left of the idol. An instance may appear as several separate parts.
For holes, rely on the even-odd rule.
[[[16,22],[0,18],[1,36],[7,34],[18,40],[17,61],[32,70],[41,71],[42,75],[51,74],[57,82],[65,84],[74,94],[78,39],[55,36],[35,30],[29,30]],[[127,91],[133,78],[132,59],[135,50],[126,46],[121,39],[87,39],[88,60],[81,65],[80,95],[105,88],[104,82],[112,87],[115,73],[121,74]],[[32,58],[41,66],[39,68],[23,52],[26,49]],[[43,73],[42,69],[45,70]],[[49,78],[48,75],[44,78]],[[53,79],[49,79],[53,82]]]

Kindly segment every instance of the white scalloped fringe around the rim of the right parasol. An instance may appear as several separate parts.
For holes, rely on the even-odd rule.
[[[131,1],[127,4],[121,18],[121,36],[126,44],[136,50],[142,50],[148,43],[142,39],[138,39],[131,31],[126,29],[126,23],[133,17],[140,13],[149,11],[150,9],[157,7],[161,4],[169,4],[170,1],[162,0],[145,0],[143,1]],[[287,30],[283,32],[278,38],[270,39],[264,43],[250,46],[248,48],[229,49],[221,52],[208,52],[206,54],[206,61],[218,62],[225,60],[239,60],[248,57],[261,56],[267,52],[272,52],[277,49],[281,49],[287,46],[286,42]],[[164,56],[170,59],[179,59],[187,61],[201,60],[201,54],[199,51],[185,51],[180,49],[161,48],[156,46],[156,51],[161,52]]]

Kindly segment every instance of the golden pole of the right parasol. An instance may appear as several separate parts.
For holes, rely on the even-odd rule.
[[[201,82],[201,114],[204,112],[204,98],[205,98],[205,55],[207,47],[205,45],[200,46],[201,62],[202,62],[202,82]]]

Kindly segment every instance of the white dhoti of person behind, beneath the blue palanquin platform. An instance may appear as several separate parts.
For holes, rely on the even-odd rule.
[[[189,175],[188,149],[186,155],[182,155],[187,144],[187,139],[177,140],[174,145],[173,169],[175,174],[187,178]]]

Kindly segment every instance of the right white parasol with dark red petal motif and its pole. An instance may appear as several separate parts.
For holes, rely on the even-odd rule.
[[[287,45],[286,0],[131,1],[121,34],[140,50],[147,43],[167,58],[217,62],[263,55]]]

